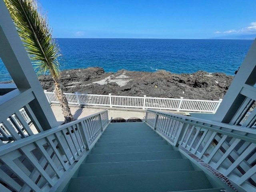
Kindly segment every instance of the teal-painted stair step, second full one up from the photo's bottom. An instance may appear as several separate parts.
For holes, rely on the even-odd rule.
[[[193,170],[194,168],[188,159],[86,163],[80,166],[78,177]]]

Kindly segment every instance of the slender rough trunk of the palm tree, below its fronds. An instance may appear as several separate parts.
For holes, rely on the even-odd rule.
[[[56,78],[53,78],[54,84],[55,84],[55,94],[58,102],[60,103],[60,107],[62,109],[62,113],[64,115],[64,122],[72,122],[74,121],[74,117],[71,114],[70,108],[68,106],[68,100],[66,96],[62,93],[62,90],[60,89],[60,84],[58,83]]]

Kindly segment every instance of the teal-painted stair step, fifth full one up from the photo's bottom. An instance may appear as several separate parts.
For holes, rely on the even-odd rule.
[[[148,146],[148,145],[167,145],[167,142],[165,140],[97,142],[95,144],[95,147],[122,147],[122,146]]]

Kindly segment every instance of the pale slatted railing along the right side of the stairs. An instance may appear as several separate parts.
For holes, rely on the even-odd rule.
[[[147,110],[145,122],[241,191],[256,191],[256,130]]]

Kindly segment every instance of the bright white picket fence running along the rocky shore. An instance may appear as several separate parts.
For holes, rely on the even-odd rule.
[[[55,93],[44,91],[49,103],[58,103]],[[190,100],[173,98],[154,98],[154,97],[132,97],[132,96],[114,96],[64,93],[69,104],[142,108],[142,109],[165,109],[177,111],[209,112],[215,113],[222,99],[218,101],[208,100]]]

